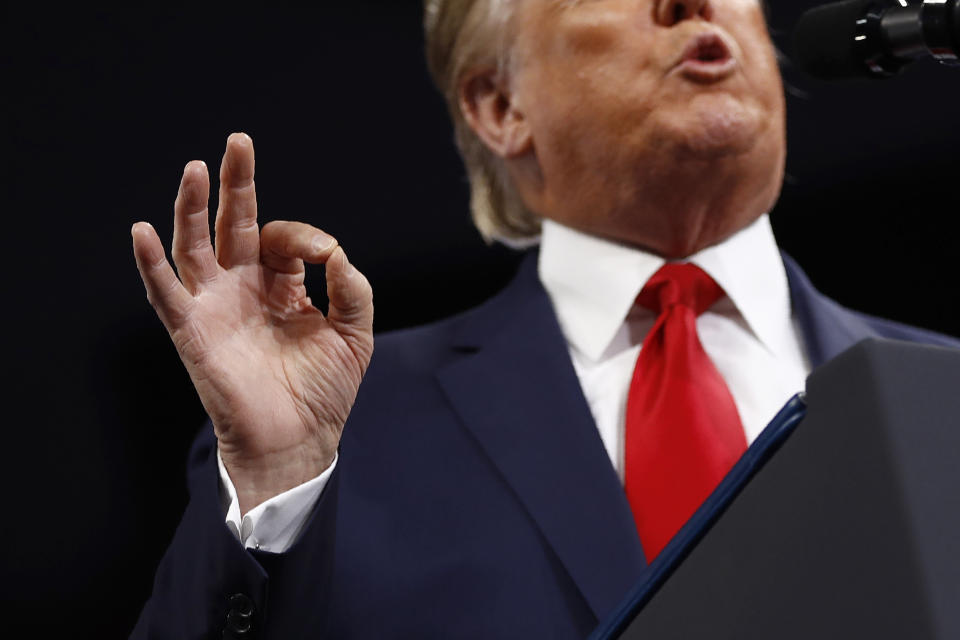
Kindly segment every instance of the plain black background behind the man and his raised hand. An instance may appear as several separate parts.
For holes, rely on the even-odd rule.
[[[516,255],[469,222],[419,2],[337,4],[2,10],[8,634],[125,637],[185,505],[203,413],[129,228],[149,220],[168,241],[186,161],[216,167],[226,136],[250,133],[262,219],[336,235],[374,285],[378,331],[471,306],[509,278]],[[784,48],[810,4],[774,5]],[[960,334],[960,70],[785,76],[781,245],[848,306]]]

